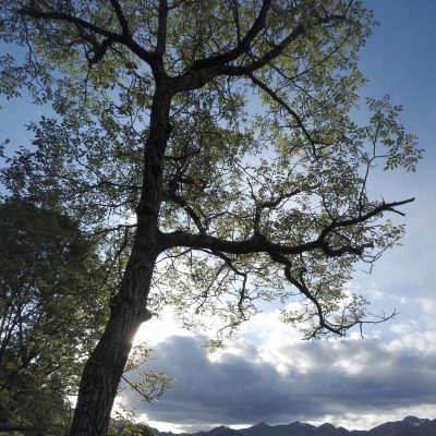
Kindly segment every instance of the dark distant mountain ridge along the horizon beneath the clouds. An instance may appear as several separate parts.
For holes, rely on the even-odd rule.
[[[171,432],[159,432],[153,428],[156,436],[177,436]],[[402,421],[387,422],[368,431],[348,431],[331,424],[315,426],[301,423],[268,425],[261,422],[252,427],[233,429],[225,426],[209,432],[197,432],[191,436],[436,436],[436,420],[407,416]]]

